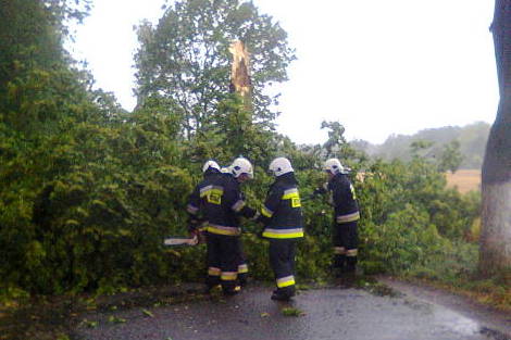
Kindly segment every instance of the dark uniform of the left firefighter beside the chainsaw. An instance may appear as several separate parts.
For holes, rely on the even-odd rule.
[[[205,224],[208,289],[221,284],[225,293],[234,293],[240,266],[239,216],[253,217],[232,175],[215,173],[207,176],[192,192],[188,213],[200,212]]]

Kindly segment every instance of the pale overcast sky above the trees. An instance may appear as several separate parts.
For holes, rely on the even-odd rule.
[[[298,60],[282,92],[278,131],[299,143],[326,139],[339,121],[349,139],[493,123],[497,75],[490,0],[254,0],[288,33]],[[163,0],[95,0],[74,53],[98,87],[135,105],[133,26],[162,14]]]

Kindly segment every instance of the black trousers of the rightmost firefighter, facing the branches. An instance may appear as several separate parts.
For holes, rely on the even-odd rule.
[[[353,272],[359,247],[358,222],[334,223],[334,268]]]

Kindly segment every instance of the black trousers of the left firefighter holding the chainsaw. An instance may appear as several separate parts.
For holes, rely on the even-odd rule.
[[[208,232],[205,244],[208,259],[205,284],[209,288],[221,284],[225,291],[234,290],[238,277],[239,237]]]

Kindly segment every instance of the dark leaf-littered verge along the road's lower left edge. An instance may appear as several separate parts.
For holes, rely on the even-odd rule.
[[[151,286],[111,294],[32,298],[12,291],[0,297],[0,340],[67,340],[76,327],[99,326],[99,322],[90,317],[91,312],[140,308],[142,315],[153,317],[147,308],[210,299],[201,293],[201,287],[195,284]],[[108,319],[110,324],[125,322],[113,315]]]

